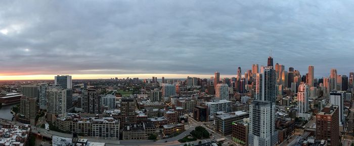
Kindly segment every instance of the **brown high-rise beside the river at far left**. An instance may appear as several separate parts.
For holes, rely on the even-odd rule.
[[[24,118],[27,124],[35,125],[35,117],[37,113],[37,98],[21,97],[20,115]]]

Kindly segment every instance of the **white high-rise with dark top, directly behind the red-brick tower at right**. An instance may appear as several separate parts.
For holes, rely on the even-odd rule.
[[[339,125],[344,124],[344,97],[345,97],[345,92],[344,91],[332,91],[329,94],[329,103],[333,104],[335,106],[338,106],[338,121]]]

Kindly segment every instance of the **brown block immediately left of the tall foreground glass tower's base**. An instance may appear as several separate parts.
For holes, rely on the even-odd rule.
[[[248,127],[249,118],[244,118],[242,120],[232,122],[232,140],[239,144],[242,144],[243,146],[247,146]]]

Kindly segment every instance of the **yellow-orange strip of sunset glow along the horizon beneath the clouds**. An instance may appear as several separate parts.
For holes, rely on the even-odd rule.
[[[0,80],[54,80],[54,77],[58,75],[6,75],[1,76]],[[157,77],[161,79],[164,77],[165,79],[186,79],[189,77],[197,77],[202,79],[210,79],[210,77],[214,77],[213,75],[197,75],[197,74],[121,74],[121,75],[111,75],[111,74],[83,74],[83,75],[70,75],[73,80],[78,79],[110,79],[110,78],[139,78],[139,79],[151,79],[152,77]],[[236,75],[235,75],[236,76]],[[220,76],[220,78],[232,78],[235,77],[232,75]]]

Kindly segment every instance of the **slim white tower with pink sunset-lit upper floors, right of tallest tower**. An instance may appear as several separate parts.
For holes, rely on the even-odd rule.
[[[297,112],[306,113],[308,111],[308,86],[306,84],[300,84],[299,90],[297,92]]]

